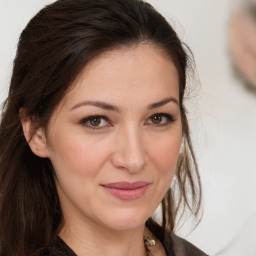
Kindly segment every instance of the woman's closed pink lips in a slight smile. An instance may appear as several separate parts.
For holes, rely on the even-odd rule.
[[[136,200],[140,198],[147,190],[149,182],[137,181],[129,182],[114,182],[102,185],[111,195],[121,200]]]

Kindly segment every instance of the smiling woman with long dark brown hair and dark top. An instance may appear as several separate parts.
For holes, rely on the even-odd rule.
[[[1,255],[205,255],[173,234],[201,199],[187,68],[143,1],[59,0],[29,22],[0,127]]]

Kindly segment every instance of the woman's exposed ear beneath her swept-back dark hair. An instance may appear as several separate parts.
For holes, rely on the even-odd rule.
[[[30,117],[24,116],[24,111],[20,111],[20,120],[26,141],[31,151],[39,157],[48,157],[48,148],[44,128],[33,129],[33,121]]]

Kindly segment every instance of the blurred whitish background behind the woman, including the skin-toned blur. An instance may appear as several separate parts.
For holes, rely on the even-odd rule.
[[[19,34],[51,2],[0,0],[1,103]],[[195,230],[188,217],[177,234],[210,255],[256,256],[256,1],[148,2],[190,46],[198,73],[188,109],[204,211]]]

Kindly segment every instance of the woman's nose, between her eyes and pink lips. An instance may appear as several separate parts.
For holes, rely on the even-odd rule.
[[[116,148],[112,155],[112,163],[118,169],[137,173],[143,170],[147,155],[143,136],[135,127],[126,128],[116,136]]]

